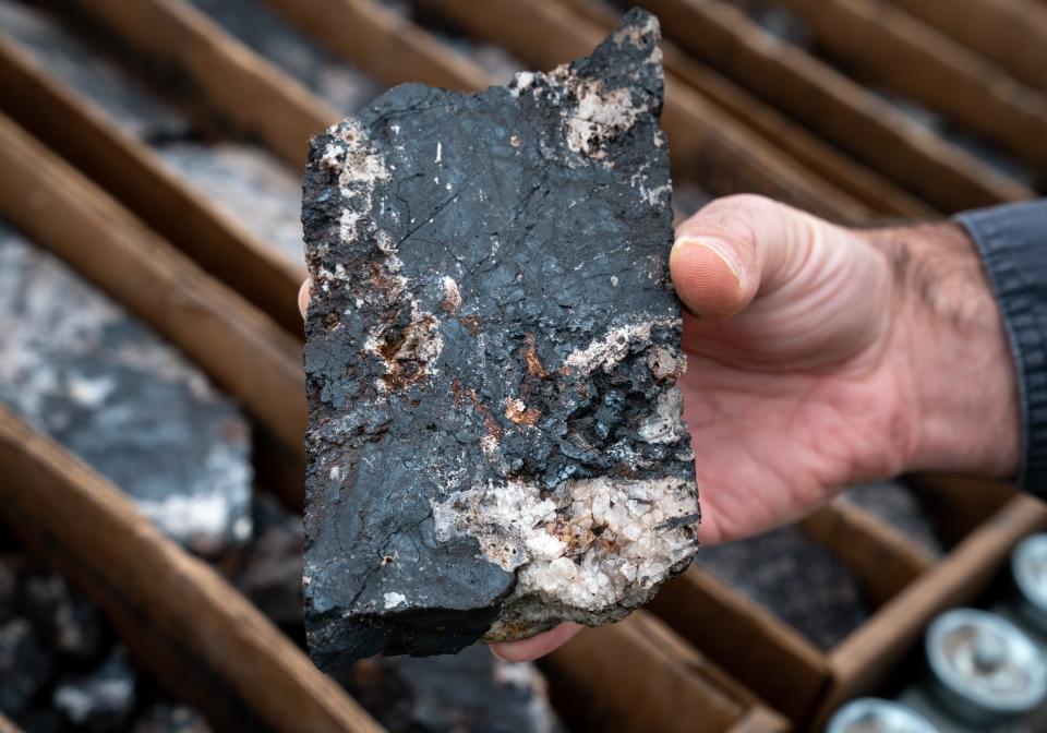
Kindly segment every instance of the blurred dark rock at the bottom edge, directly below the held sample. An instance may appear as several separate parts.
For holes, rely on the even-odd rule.
[[[534,665],[503,662],[482,647],[363,660],[336,678],[389,733],[564,730]]]

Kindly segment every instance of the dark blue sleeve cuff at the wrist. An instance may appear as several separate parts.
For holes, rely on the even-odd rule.
[[[1019,485],[1047,496],[1047,200],[956,216],[1003,313],[1022,408]]]

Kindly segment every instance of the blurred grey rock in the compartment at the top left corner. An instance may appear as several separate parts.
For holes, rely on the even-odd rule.
[[[184,115],[158,100],[104,59],[98,47],[84,44],[45,10],[0,0],[0,33],[28,51],[49,74],[100,108],[124,132],[146,140],[192,132]]]

